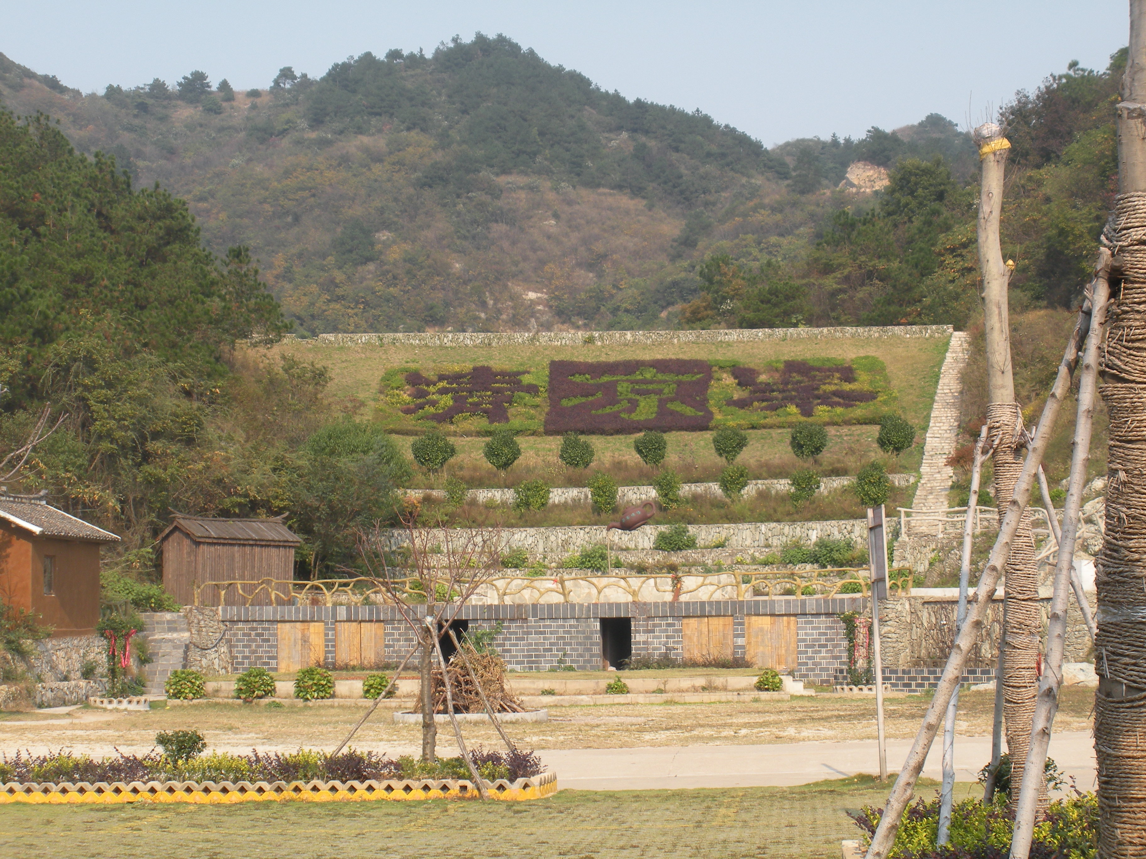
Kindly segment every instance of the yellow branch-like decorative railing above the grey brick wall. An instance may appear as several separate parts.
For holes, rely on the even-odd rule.
[[[888,575],[888,592],[911,593],[913,574],[896,568]],[[289,592],[288,589],[289,588]],[[416,576],[390,580],[386,586],[377,578],[324,578],[313,582],[286,582],[275,578],[207,582],[195,586],[195,605],[312,605],[369,606],[392,605],[391,590],[406,594],[411,602],[425,601]],[[503,575],[478,586],[471,602],[508,605],[533,602],[660,602],[744,600],[763,597],[866,597],[871,590],[866,568],[808,570],[716,569],[706,573],[647,573],[637,575],[575,574],[545,570],[540,575]],[[456,593],[437,594],[449,601]]]

